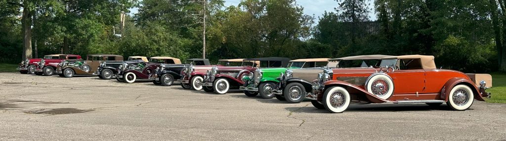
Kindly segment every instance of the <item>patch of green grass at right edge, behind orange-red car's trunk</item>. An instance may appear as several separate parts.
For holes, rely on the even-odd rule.
[[[506,73],[490,75],[492,75],[492,88],[487,89],[487,92],[491,92],[492,97],[485,100],[490,103],[506,103]]]

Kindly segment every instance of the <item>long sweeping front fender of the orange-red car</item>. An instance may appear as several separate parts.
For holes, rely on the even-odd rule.
[[[330,80],[323,83],[325,85],[325,89],[330,88],[332,86],[340,86],[348,90],[350,94],[355,94],[356,96],[365,96],[370,102],[372,103],[384,103],[384,102],[390,102],[388,100],[381,99],[377,97],[376,95],[369,93],[368,91],[355,86],[353,84],[343,82],[343,81],[337,81],[337,80]]]

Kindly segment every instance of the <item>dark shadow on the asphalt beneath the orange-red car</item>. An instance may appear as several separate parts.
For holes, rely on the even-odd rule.
[[[287,111],[295,113],[328,113],[325,109],[317,109],[309,104],[307,107],[287,107]],[[473,110],[473,109],[468,109]],[[446,104],[429,106],[424,103],[412,104],[350,104],[346,112],[409,112],[409,111],[451,111]]]

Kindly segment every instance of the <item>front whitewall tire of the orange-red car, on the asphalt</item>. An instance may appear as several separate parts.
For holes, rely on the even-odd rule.
[[[343,87],[330,87],[323,93],[323,106],[330,113],[342,113],[350,101],[350,93]]]

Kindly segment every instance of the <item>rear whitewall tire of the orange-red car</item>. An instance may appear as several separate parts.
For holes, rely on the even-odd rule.
[[[448,95],[449,97],[446,104],[456,111],[468,109],[474,101],[473,90],[466,85],[454,86]]]

